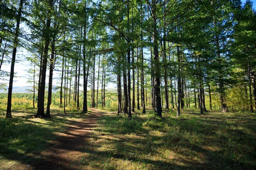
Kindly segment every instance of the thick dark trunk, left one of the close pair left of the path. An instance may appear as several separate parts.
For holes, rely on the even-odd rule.
[[[49,30],[51,27],[51,15],[53,11],[53,0],[49,0],[49,10],[47,14],[47,23],[46,27]],[[46,40],[44,42],[44,56],[42,62],[42,77],[41,77],[41,85],[40,85],[40,95],[39,95],[39,102],[38,102],[38,111],[36,117],[41,116],[44,117],[44,91],[45,91],[45,79],[46,79],[46,69],[47,69],[47,58],[48,58],[48,50],[49,50],[49,42],[50,42],[50,32],[46,31],[44,33]]]

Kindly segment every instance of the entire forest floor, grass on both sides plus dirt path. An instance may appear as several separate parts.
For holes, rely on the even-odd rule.
[[[256,116],[195,110],[117,116],[35,110],[0,117],[0,170],[247,169],[256,167]]]

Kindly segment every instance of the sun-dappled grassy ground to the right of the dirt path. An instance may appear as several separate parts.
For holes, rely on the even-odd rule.
[[[92,141],[99,169],[255,169],[256,119],[252,113],[137,113],[133,119],[108,112]],[[100,156],[100,159],[99,159]]]

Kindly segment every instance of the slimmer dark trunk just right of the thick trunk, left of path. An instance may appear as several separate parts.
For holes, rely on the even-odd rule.
[[[51,59],[50,59],[50,70],[49,70],[49,87],[48,87],[48,100],[47,100],[47,110],[45,116],[47,118],[50,118],[50,106],[52,103],[52,76],[53,76],[53,68],[54,68],[54,56],[55,56],[55,40],[52,40],[52,53],[51,53]]]

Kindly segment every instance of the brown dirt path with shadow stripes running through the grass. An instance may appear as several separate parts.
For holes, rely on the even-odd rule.
[[[87,119],[67,120],[66,130],[63,133],[58,133],[60,137],[52,143],[52,147],[41,153],[42,161],[31,162],[24,170],[81,169],[80,161],[83,160],[84,155],[88,154],[87,147],[91,145],[88,142],[90,134],[98,126],[97,120],[104,113],[95,108],[90,108],[90,110],[92,112],[89,113]],[[86,169],[86,167],[82,169]]]

